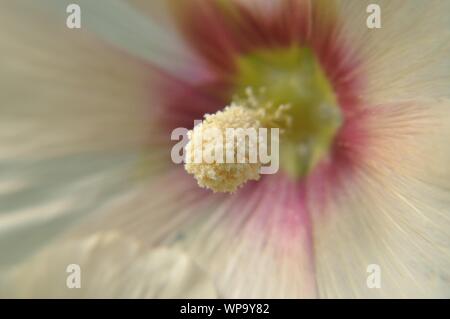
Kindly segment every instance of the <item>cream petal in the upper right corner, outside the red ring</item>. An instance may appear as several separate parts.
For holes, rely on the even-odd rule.
[[[369,29],[366,8],[381,8],[381,29]],[[415,97],[448,97],[450,2],[339,1],[343,39],[359,51],[364,97],[378,104]]]

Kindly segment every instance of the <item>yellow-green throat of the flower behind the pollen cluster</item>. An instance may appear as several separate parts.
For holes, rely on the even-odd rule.
[[[237,60],[235,100],[251,88],[260,105],[275,114],[280,105],[288,121],[281,129],[281,168],[293,177],[306,175],[329,151],[342,123],[332,86],[313,51],[294,46],[265,49]],[[265,123],[263,123],[265,124]]]

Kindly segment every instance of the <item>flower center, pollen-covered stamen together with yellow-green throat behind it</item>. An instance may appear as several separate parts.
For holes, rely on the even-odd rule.
[[[264,147],[290,176],[305,176],[328,154],[342,122],[332,87],[313,52],[297,46],[261,50],[239,57],[236,66],[230,106],[205,115],[189,132],[186,171],[201,187],[234,192],[259,179],[265,163],[261,157],[254,161],[251,157],[256,146],[266,143],[256,140],[256,133],[251,138],[252,132],[248,139],[229,138],[228,130],[276,128],[279,148],[272,141]],[[224,161],[225,153],[231,159],[241,155],[243,160]]]

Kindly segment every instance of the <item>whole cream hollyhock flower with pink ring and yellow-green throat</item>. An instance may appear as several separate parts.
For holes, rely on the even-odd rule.
[[[450,3],[371,2],[2,3],[0,293],[448,297]],[[206,114],[279,171],[173,163]]]

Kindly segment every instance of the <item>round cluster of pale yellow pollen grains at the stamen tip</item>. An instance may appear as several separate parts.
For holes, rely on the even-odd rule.
[[[251,161],[248,149],[252,141],[237,138],[235,143],[226,139],[228,128],[260,128],[261,123],[255,110],[250,110],[237,104],[231,104],[224,110],[212,115],[205,115],[203,122],[189,131],[189,142],[186,145],[186,164],[185,169],[189,174],[194,175],[200,187],[209,188],[214,192],[236,191],[240,186],[249,180],[258,180],[261,163]],[[218,141],[217,134],[205,134],[207,131],[215,130],[220,132],[222,139]],[[245,161],[237,161],[237,151],[239,145],[245,143]],[[197,154],[215,154],[217,145],[223,145],[223,156],[230,152],[233,153],[233,162],[227,160],[198,162],[195,160]],[[242,147],[244,146],[242,145]],[[253,145],[254,146],[254,145]]]

